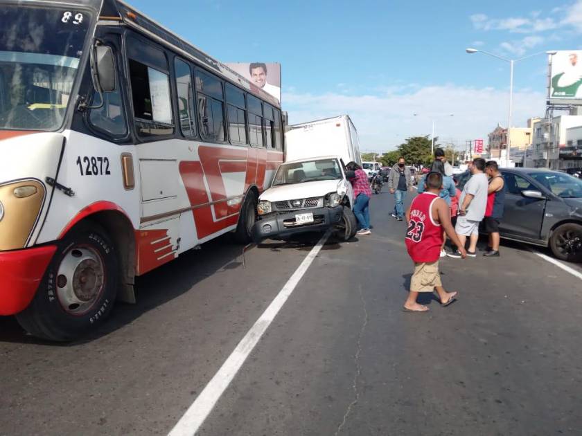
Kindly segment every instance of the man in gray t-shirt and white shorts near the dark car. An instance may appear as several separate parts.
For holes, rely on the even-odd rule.
[[[470,172],[473,174],[467,181],[459,199],[459,216],[455,224],[455,232],[459,235],[459,241],[465,245],[469,237],[467,255],[475,257],[477,251],[477,239],[479,238],[479,222],[485,216],[487,206],[488,181],[484,173],[485,159],[476,158],[470,164]],[[449,254],[450,257],[461,257],[459,251]]]

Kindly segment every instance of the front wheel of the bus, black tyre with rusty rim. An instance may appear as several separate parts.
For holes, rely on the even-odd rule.
[[[81,224],[60,241],[33,301],[16,318],[39,338],[79,338],[107,318],[117,282],[117,254],[107,233]]]

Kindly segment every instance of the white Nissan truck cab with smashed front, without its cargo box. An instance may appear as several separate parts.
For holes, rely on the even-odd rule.
[[[345,241],[357,230],[353,188],[339,156],[305,158],[279,165],[270,188],[258,198],[256,243],[332,228]]]

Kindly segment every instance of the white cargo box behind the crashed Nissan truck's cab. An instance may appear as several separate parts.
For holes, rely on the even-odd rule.
[[[340,156],[344,164],[362,164],[358,131],[348,115],[303,122],[285,132],[285,162],[318,156]]]

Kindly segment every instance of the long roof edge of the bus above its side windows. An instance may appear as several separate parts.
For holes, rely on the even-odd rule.
[[[222,62],[215,60],[213,57],[204,53],[200,48],[182,39],[175,33],[171,32],[161,24],[157,23],[153,19],[139,12],[136,8],[128,5],[121,0],[105,0],[103,2],[103,8],[101,9],[100,20],[102,21],[122,21],[141,33],[145,33],[150,37],[153,37],[160,44],[164,44],[175,51],[182,53],[186,57],[190,57],[191,60],[202,64],[206,68],[220,75],[222,78],[229,80],[238,86],[243,87],[247,91],[253,93],[257,97],[265,100],[271,105],[281,109],[281,104],[279,100],[271,96],[270,93],[263,91],[263,89],[257,87],[255,84],[244,78],[242,75],[236,73],[230,69],[227,65],[222,64]]]

